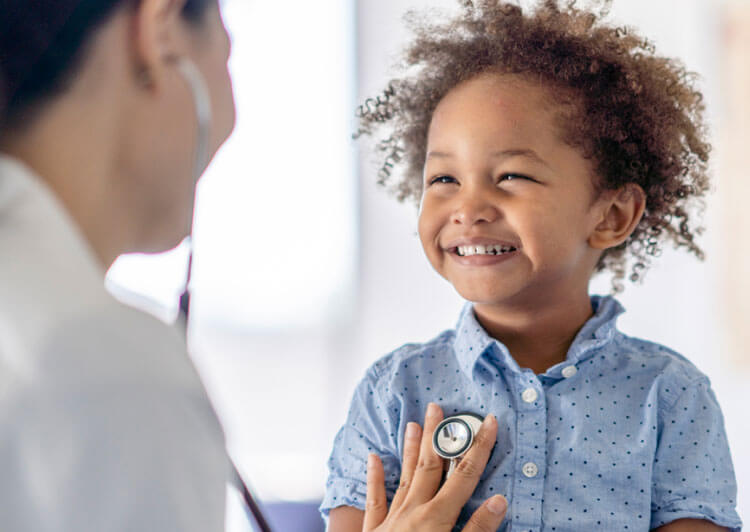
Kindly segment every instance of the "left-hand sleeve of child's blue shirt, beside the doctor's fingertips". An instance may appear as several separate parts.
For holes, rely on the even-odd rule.
[[[351,506],[364,510],[367,494],[367,457],[376,453],[383,461],[388,500],[398,487],[401,459],[398,449],[397,401],[378,389],[371,368],[354,391],[346,422],[339,430],[328,460],[328,481],[320,506],[324,519],[331,509]]]

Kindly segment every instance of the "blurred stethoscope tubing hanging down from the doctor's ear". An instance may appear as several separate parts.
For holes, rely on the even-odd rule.
[[[193,64],[192,61],[186,58],[177,59],[177,71],[182,75],[191,94],[193,95],[193,102],[195,105],[195,114],[197,118],[196,128],[196,146],[195,156],[193,161],[193,182],[197,183],[203,171],[208,166],[209,155],[209,132],[211,130],[211,98],[206,88],[206,82],[203,79],[203,75],[200,73],[198,68]],[[193,271],[193,246],[192,239],[188,236],[185,239],[190,253],[187,265],[187,276],[185,280],[185,290],[180,296],[179,308],[180,314],[183,317],[183,324],[185,326],[185,332],[188,330],[188,319],[190,316],[190,279]],[[234,465],[232,459],[229,459],[229,464],[232,468],[233,478],[232,483],[235,488],[242,493],[242,499],[247,505],[247,509],[258,525],[260,532],[272,532],[271,527],[268,525],[260,506],[255,502],[250,489],[248,488],[245,481],[242,479],[237,466]]]

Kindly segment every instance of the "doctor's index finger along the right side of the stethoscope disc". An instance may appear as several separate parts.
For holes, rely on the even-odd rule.
[[[450,478],[435,496],[438,507],[446,510],[455,509],[456,515],[469,500],[479,483],[484,468],[487,466],[492,446],[497,438],[497,419],[492,414],[484,418],[482,427],[477,433],[471,449],[461,459]]]

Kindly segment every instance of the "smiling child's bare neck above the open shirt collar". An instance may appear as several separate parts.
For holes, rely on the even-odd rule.
[[[528,309],[476,304],[474,312],[487,333],[505,344],[520,367],[539,374],[566,359],[576,334],[592,316],[591,301],[584,295]]]

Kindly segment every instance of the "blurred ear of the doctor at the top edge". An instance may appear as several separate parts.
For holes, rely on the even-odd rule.
[[[184,50],[180,11],[185,0],[139,0],[133,9],[133,45],[139,85],[159,90],[166,71]]]

